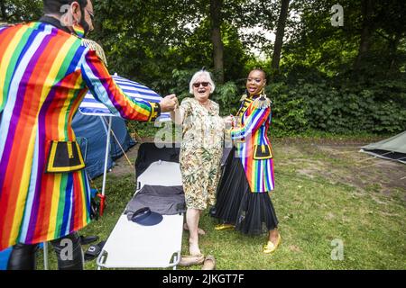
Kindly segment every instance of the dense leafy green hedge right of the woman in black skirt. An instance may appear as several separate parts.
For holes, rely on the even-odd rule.
[[[332,80],[270,85],[274,129],[332,133],[393,133],[406,129],[406,94],[401,81],[364,83]]]

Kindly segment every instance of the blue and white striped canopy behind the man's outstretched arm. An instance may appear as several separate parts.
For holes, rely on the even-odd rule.
[[[115,83],[120,86],[123,92],[128,95],[133,100],[144,100],[149,102],[159,103],[161,102],[162,97],[159,94],[156,94],[150,88],[141,85],[137,82],[128,80],[116,74],[112,76],[115,80]],[[94,115],[94,116],[115,116],[112,112],[108,110],[105,104],[97,101],[93,94],[88,92],[85,95],[82,103],[80,103],[79,112],[85,115]],[[158,121],[170,121],[171,116],[169,112],[161,113],[161,116],[158,118]]]

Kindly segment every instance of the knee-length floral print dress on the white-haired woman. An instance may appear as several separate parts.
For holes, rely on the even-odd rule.
[[[180,104],[184,115],[180,145],[180,172],[188,208],[205,210],[216,202],[216,190],[223,154],[225,123],[219,106],[205,108],[195,98]]]

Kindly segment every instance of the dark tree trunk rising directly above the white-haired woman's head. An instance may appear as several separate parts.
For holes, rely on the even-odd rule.
[[[224,83],[224,45],[221,40],[221,9],[223,0],[210,0],[211,42],[213,44],[214,73],[219,84]]]

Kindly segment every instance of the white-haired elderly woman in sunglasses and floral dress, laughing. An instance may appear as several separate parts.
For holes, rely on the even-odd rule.
[[[198,221],[208,205],[216,201],[220,160],[223,152],[225,121],[218,115],[219,107],[208,99],[215,84],[207,71],[192,76],[189,93],[171,112],[171,119],[182,126],[180,172],[187,205],[186,222],[189,229],[189,253],[200,256]]]

